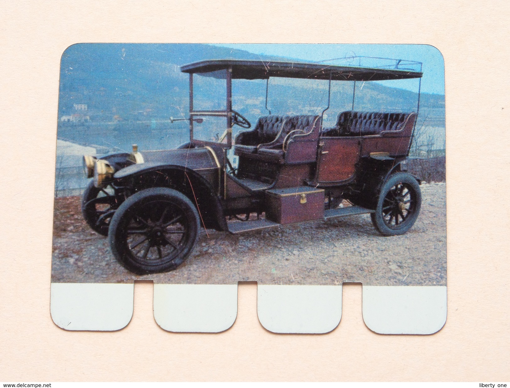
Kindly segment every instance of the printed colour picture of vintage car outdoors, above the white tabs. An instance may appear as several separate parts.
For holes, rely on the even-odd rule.
[[[237,51],[66,50],[52,281],[445,285],[444,94],[424,62]]]

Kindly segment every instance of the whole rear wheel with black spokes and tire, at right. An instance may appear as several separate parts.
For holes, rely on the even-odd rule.
[[[371,214],[375,228],[386,236],[400,235],[414,225],[421,208],[421,190],[416,179],[406,173],[390,176],[379,193],[375,213]]]

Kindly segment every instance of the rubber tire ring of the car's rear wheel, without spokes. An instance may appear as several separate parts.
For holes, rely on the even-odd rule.
[[[398,229],[391,229],[388,228],[388,226],[385,224],[384,220],[382,219],[382,203],[384,202],[384,199],[386,198],[386,195],[388,191],[397,183],[407,183],[411,185],[411,187],[416,192],[416,208],[413,214],[409,218],[405,220],[404,223],[402,223],[402,227]],[[416,222],[416,219],[418,218],[418,215],[420,213],[421,209],[421,190],[420,190],[420,184],[416,180],[415,177],[413,177],[410,174],[406,173],[395,173],[390,175],[386,183],[382,186],[379,197],[377,200],[377,207],[375,209],[375,213],[370,214],[370,218],[372,219],[372,224],[374,224],[375,229],[377,231],[384,235],[384,236],[398,236],[406,233],[408,230],[410,230],[413,225]]]

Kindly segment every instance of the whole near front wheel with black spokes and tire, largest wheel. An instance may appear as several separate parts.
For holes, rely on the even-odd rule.
[[[179,191],[155,187],[140,191],[119,206],[110,224],[110,247],[115,258],[132,272],[175,269],[190,254],[199,217]]]

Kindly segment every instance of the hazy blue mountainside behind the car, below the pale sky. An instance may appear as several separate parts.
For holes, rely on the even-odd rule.
[[[205,59],[289,60],[208,44],[72,45],[62,55],[59,118],[77,114],[74,104],[86,104],[90,121],[99,123],[187,116],[188,74],[182,73],[180,66]],[[268,105],[273,113],[320,113],[327,105],[326,81],[316,81],[315,85],[285,81],[270,80]],[[331,123],[339,112],[351,109],[352,84],[332,82]],[[214,90],[204,93],[197,97],[224,98]],[[355,110],[411,111],[416,110],[418,101],[417,93],[376,82],[357,82],[355,97]],[[235,80],[233,106],[250,121],[267,114],[265,80]],[[444,118],[444,95],[422,93],[420,120],[444,127]]]

